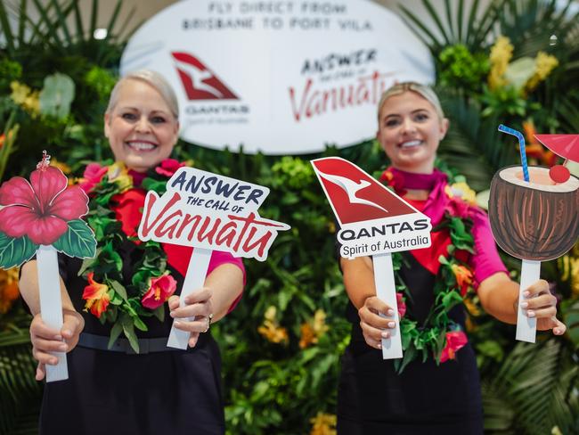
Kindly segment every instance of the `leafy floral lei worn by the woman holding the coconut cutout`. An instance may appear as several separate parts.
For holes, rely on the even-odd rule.
[[[396,193],[405,193],[399,180],[388,170],[384,172],[380,180],[395,189]],[[397,283],[396,299],[400,316],[402,347],[404,349],[404,357],[396,359],[394,363],[398,373],[402,373],[404,367],[417,358],[421,358],[422,362],[425,362],[428,356],[433,356],[437,365],[454,359],[456,351],[468,342],[467,335],[461,330],[461,325],[454,322],[448,314],[451,309],[463,303],[466,294],[472,289],[472,270],[466,261],[460,259],[466,259],[469,253],[475,253],[474,239],[470,234],[472,220],[469,217],[459,216],[461,213],[456,211],[457,209],[465,209],[467,204],[459,198],[453,198],[450,188],[447,188],[445,193],[451,198],[451,201],[461,201],[461,204],[458,208],[447,209],[442,221],[433,228],[433,232],[447,228],[451,243],[448,246],[448,257],[445,258],[441,255],[438,259],[440,268],[434,284],[435,301],[422,325],[409,316],[404,316],[406,313],[405,300],[412,300],[412,295],[400,275],[400,269],[405,261],[403,254],[396,252],[392,255]]]

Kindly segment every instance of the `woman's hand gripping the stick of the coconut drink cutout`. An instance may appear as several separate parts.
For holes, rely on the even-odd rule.
[[[555,335],[565,333],[567,326],[556,317],[557,298],[550,293],[549,283],[541,279],[526,289],[523,296],[525,300],[521,302],[521,308],[527,317],[536,317],[539,331],[552,329]]]

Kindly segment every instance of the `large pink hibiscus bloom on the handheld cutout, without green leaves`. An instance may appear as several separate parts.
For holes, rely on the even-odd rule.
[[[88,212],[88,197],[80,187],[67,188],[67,177],[54,167],[30,174],[29,182],[14,176],[0,187],[0,231],[9,237],[27,235],[49,245],[67,232],[69,220]]]

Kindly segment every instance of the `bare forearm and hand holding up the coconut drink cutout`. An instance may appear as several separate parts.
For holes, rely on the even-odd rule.
[[[517,323],[518,283],[512,281],[504,272],[485,278],[478,286],[478,298],[491,316],[508,324]],[[555,335],[565,333],[567,327],[557,319],[557,298],[550,294],[549,283],[539,280],[526,289],[526,316],[537,318],[537,329],[552,329]],[[526,304],[526,305],[525,305]]]

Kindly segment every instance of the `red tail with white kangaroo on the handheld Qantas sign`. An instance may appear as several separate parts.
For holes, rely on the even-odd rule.
[[[347,160],[328,157],[312,165],[340,225],[417,212]]]

